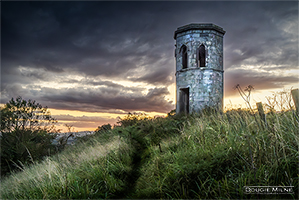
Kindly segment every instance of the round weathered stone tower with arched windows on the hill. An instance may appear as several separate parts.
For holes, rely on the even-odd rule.
[[[188,24],[176,40],[176,113],[223,107],[223,36],[214,24]]]

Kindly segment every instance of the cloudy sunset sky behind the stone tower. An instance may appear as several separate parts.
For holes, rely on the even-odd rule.
[[[128,112],[175,108],[174,31],[214,23],[224,35],[224,103],[298,88],[297,1],[2,1],[1,102],[48,106],[59,126],[95,130]]]

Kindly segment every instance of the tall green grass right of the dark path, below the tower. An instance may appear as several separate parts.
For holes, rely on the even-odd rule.
[[[204,114],[185,123],[182,134],[162,141],[141,168],[139,198],[258,198],[244,186],[294,186],[298,197],[298,122],[292,112],[268,116],[261,129],[246,111]]]

